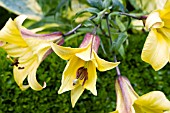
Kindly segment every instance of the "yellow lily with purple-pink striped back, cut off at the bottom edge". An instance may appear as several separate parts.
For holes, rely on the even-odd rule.
[[[112,113],[169,113],[170,101],[160,91],[152,91],[142,96],[132,88],[129,80],[118,77],[115,83],[117,95],[116,111]]]

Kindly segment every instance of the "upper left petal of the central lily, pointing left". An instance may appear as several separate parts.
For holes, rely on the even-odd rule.
[[[51,47],[53,51],[62,59],[68,60],[73,55],[75,55],[78,52],[84,51],[85,48],[70,48],[70,47],[62,47],[57,44],[51,43]]]

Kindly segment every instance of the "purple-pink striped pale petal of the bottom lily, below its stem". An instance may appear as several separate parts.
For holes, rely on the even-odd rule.
[[[135,113],[132,107],[134,101],[138,98],[138,95],[133,90],[130,82],[125,77],[118,77],[115,83],[117,105],[116,110],[120,113]]]

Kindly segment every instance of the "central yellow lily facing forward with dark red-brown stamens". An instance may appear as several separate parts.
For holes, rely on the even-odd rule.
[[[99,58],[97,55],[99,44],[98,36],[87,33],[80,48],[51,45],[58,56],[64,60],[69,60],[64,69],[58,93],[71,90],[73,107],[85,89],[90,90],[93,95],[97,95],[96,68],[99,71],[106,71],[119,64],[119,62],[112,63]]]

